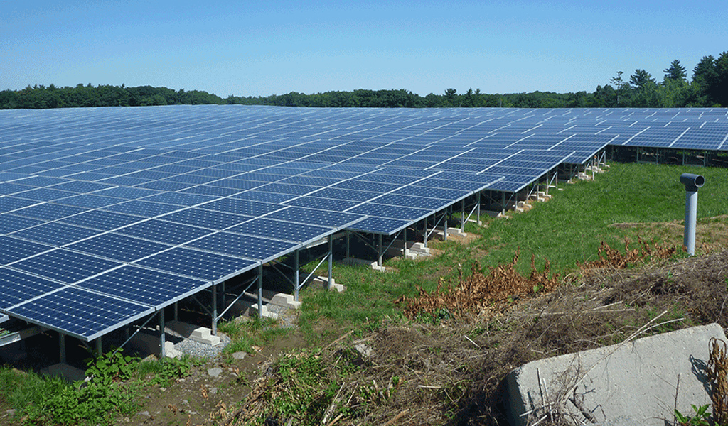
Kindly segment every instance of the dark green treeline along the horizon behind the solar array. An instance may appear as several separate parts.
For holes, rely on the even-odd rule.
[[[728,51],[716,59],[708,55],[700,60],[688,81],[687,70],[673,60],[658,82],[650,73],[636,69],[629,77],[617,71],[609,84],[597,86],[593,93],[531,92],[488,95],[480,89],[458,93],[446,89],[442,95],[416,95],[405,89],[323,92],[306,95],[290,92],[265,97],[230,95],[225,99],[204,91],[166,87],[33,86],[0,92],[0,109],[72,108],[142,105],[242,104],[305,107],[376,107],[376,108],[683,108],[728,106]]]

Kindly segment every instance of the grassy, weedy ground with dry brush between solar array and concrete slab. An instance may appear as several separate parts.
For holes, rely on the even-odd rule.
[[[682,172],[705,176],[696,257],[680,249]],[[83,411],[116,425],[503,425],[501,382],[522,363],[638,330],[728,326],[727,184],[725,169],[612,164],[529,211],[468,223],[467,238],[430,241],[430,257],[389,259],[385,273],[335,264],[345,292],[304,289],[294,328],[222,323],[221,358],[117,353],[80,389],[3,367],[0,414],[17,411],[0,424],[75,424]],[[210,382],[210,367],[226,378]],[[108,401],[108,414],[84,411]]]

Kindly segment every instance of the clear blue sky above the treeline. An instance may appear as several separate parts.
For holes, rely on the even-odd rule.
[[[593,92],[728,50],[725,0],[0,0],[0,90]]]

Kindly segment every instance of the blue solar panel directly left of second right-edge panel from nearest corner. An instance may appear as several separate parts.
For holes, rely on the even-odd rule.
[[[118,265],[119,263],[111,260],[69,252],[65,249],[56,249],[52,252],[21,260],[15,263],[13,268],[72,284]]]

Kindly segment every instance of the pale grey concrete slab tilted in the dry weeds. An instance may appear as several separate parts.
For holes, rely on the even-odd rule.
[[[620,418],[672,424],[676,407],[692,414],[691,404],[711,403],[705,379],[711,338],[726,339],[719,324],[527,363],[506,378],[510,423],[525,426],[561,410],[574,425],[624,423]]]

